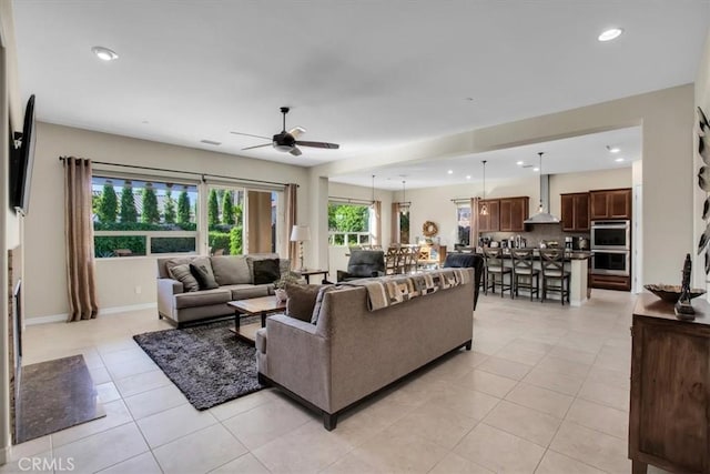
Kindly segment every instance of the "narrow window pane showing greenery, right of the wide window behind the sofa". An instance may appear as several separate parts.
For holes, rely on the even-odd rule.
[[[210,253],[244,253],[244,190],[211,186],[207,191],[207,244]]]

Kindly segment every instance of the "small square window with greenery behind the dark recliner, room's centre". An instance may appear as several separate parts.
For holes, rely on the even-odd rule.
[[[371,206],[328,203],[328,242],[334,246],[369,245]]]

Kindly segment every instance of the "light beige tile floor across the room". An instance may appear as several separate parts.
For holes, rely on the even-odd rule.
[[[70,458],[75,473],[629,473],[633,301],[598,290],[582,307],[481,295],[474,351],[367,401],[333,432],[273,390],[194,410],[132,340],[170,327],[154,311],[29,326],[23,363],[82,353],[109,414],[14,446],[0,473],[32,461],[51,472],[52,456],[58,473]]]

